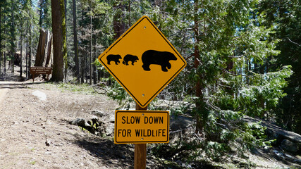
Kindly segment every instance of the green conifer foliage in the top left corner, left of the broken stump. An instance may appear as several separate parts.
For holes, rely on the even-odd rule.
[[[37,25],[37,13],[34,8],[32,8],[33,4],[30,0],[7,0],[0,1],[1,8],[1,24],[0,24],[0,61],[1,61],[1,70],[2,73],[4,67],[2,65],[6,65],[6,70],[8,70],[7,63],[4,63],[4,55],[9,61],[13,61],[13,53],[18,51],[18,40],[20,36],[28,37],[25,35],[25,30],[30,30],[32,32],[38,32],[36,28]],[[28,25],[25,23],[29,23]],[[32,27],[30,27],[30,23]],[[37,41],[38,35],[32,33],[30,39],[32,42]],[[8,61],[8,60],[6,60]]]

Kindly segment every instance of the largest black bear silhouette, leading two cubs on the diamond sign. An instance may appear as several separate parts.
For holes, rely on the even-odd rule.
[[[142,68],[146,71],[149,71],[149,65],[161,65],[161,70],[167,72],[168,69],[171,69],[171,63],[169,61],[176,61],[177,58],[174,54],[168,51],[154,51],[148,50],[142,54]]]

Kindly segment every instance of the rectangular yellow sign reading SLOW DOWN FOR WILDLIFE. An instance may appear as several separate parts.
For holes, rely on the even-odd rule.
[[[115,111],[115,144],[169,142],[169,111]]]

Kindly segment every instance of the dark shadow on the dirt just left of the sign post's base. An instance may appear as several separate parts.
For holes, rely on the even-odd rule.
[[[75,135],[75,138],[75,144],[110,168],[134,168],[133,144],[114,144],[112,140],[102,137],[82,138]]]

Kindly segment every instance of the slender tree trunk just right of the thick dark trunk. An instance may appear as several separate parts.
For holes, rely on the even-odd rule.
[[[75,77],[80,80],[80,62],[78,60],[78,32],[76,31],[76,2],[73,0],[73,42],[74,42],[74,57],[75,57]]]

